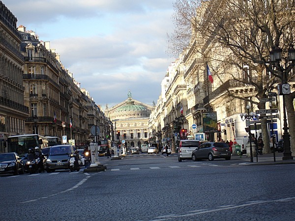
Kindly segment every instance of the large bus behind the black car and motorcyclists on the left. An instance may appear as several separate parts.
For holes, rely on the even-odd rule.
[[[7,152],[16,152],[20,157],[29,152],[29,148],[48,147],[48,139],[37,134],[10,136],[7,139]]]

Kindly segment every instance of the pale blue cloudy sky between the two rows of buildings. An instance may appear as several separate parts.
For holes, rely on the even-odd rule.
[[[1,0],[105,109],[132,98],[152,105],[174,55],[174,0]]]

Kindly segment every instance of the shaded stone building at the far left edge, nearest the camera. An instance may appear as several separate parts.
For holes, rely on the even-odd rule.
[[[0,152],[8,136],[25,133],[29,108],[24,105],[24,56],[16,17],[0,1]]]

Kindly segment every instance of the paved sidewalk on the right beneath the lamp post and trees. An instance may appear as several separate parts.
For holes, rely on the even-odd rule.
[[[242,156],[232,156],[231,160],[246,161],[245,163],[240,163],[239,165],[247,165],[247,166],[295,164],[295,157],[294,157],[294,160],[282,160],[283,156],[284,156],[283,153],[275,152],[275,162],[274,162],[273,153],[258,155],[258,162],[257,162],[256,154],[253,155],[253,162],[250,162],[250,157],[247,157],[246,154]]]

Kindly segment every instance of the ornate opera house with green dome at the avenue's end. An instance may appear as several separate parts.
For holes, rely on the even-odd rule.
[[[125,140],[125,146],[141,147],[148,143],[151,135],[148,132],[148,121],[154,107],[132,99],[129,91],[128,99],[105,110],[106,116],[113,122],[115,130],[114,141]]]

